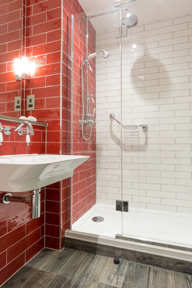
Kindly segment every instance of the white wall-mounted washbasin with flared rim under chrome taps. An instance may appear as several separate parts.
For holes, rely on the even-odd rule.
[[[69,178],[89,156],[22,154],[0,156],[0,190],[25,192]]]

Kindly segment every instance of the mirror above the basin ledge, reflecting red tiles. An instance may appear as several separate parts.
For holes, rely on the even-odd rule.
[[[0,1],[0,113],[17,118],[14,98],[21,96],[21,82],[15,81],[14,58],[22,51],[22,2]]]

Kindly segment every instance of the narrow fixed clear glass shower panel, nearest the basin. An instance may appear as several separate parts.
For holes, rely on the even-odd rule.
[[[114,5],[102,7],[74,15],[72,25],[72,153],[90,156],[73,176],[72,230],[114,238],[122,234],[121,213],[115,211],[121,200],[121,126],[110,117],[114,113],[121,121],[119,12]],[[83,125],[83,138],[87,114],[94,114],[97,124],[91,135],[90,126]],[[94,222],[97,216],[104,221]]]

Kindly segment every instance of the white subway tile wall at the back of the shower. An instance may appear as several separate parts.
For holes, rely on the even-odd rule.
[[[122,38],[123,200],[192,214],[192,15],[128,29]],[[97,31],[97,203],[121,199],[120,43]]]

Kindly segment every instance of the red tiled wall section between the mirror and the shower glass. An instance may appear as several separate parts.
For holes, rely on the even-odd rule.
[[[23,98],[35,95],[35,110],[25,111],[46,122],[46,153],[60,154],[61,0],[26,0],[26,56],[35,61],[35,78],[25,83]],[[52,196],[55,197],[52,197]],[[45,247],[60,249],[60,183],[46,187]]]

